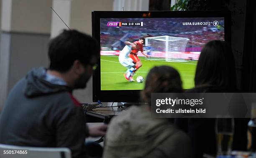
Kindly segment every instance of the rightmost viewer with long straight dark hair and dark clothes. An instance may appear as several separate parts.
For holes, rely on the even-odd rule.
[[[235,61],[225,41],[210,41],[202,48],[195,74],[195,88],[187,92],[238,92]],[[233,150],[246,150],[247,119],[235,119]],[[214,118],[175,119],[175,124],[191,139],[194,158],[216,154]]]

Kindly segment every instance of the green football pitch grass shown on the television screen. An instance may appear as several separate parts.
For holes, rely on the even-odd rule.
[[[154,66],[172,66],[179,71],[182,78],[182,86],[184,89],[194,87],[194,77],[197,61],[172,61],[167,62],[165,59],[148,60],[145,57],[139,57],[142,66],[133,79],[136,80],[137,76],[143,76],[144,82],[128,82],[123,74],[127,69],[122,66],[118,61],[118,56],[100,56],[100,81],[101,90],[141,90],[144,88],[145,79],[148,71]]]

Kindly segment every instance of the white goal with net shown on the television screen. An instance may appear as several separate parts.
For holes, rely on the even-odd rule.
[[[189,38],[172,36],[146,37],[145,46],[150,48],[152,60],[184,61],[180,56],[185,52],[188,41]]]

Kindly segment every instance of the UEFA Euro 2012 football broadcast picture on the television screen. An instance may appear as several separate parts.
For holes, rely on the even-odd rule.
[[[224,41],[224,18],[101,18],[101,90],[141,90],[154,66],[179,71],[194,87],[202,47]]]

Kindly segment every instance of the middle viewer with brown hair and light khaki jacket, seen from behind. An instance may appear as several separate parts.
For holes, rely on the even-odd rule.
[[[151,117],[151,93],[182,92],[177,70],[154,67],[148,73],[141,97],[147,105],[133,106],[114,117],[106,134],[104,158],[190,158],[185,133],[168,119]]]

